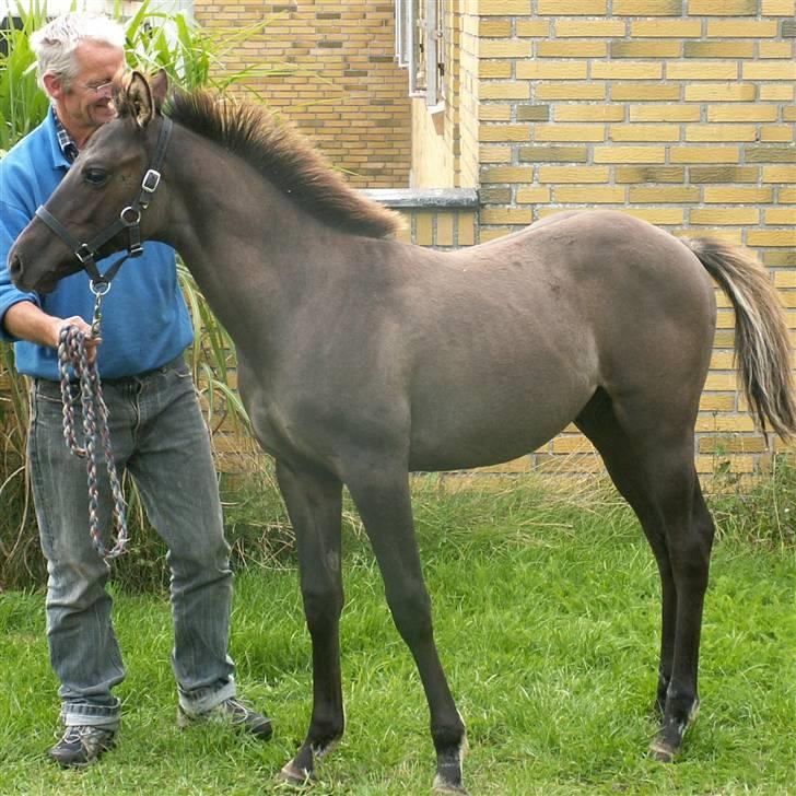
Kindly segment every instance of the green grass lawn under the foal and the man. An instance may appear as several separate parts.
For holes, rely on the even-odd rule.
[[[793,793],[792,547],[717,542],[702,711],[679,761],[663,765],[645,756],[656,729],[658,578],[631,513],[612,499],[532,487],[450,494],[436,484],[417,490],[418,537],[437,645],[468,725],[472,796]],[[286,792],[277,773],[309,716],[309,641],[292,555],[269,560],[249,563],[236,580],[232,653],[242,694],[276,721],[273,740],[242,740],[218,727],[179,731],[167,600],[119,593],[116,624],[129,670],[118,689],[120,746],[85,771],[62,772],[44,757],[58,699],[43,595],[2,595],[0,794]],[[344,573],[348,727],[321,761],[313,793],[429,793],[434,760],[422,689],[354,520]]]

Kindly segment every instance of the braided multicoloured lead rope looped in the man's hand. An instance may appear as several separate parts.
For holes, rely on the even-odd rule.
[[[94,318],[91,325],[91,337],[99,332],[102,320],[102,300],[110,285],[92,283],[94,293]],[[85,458],[85,469],[89,477],[89,534],[94,549],[104,559],[115,559],[124,552],[129,535],[127,530],[127,511],[121,483],[116,472],[116,463],[110,448],[110,433],[108,431],[108,410],[102,394],[99,373],[96,360],[89,362],[85,350],[85,332],[77,326],[66,326],[61,329],[58,342],[58,367],[61,376],[61,399],[63,401],[63,437],[67,447],[81,458]],[[78,443],[74,423],[74,403],[69,388],[69,368],[80,381],[80,397],[83,407],[83,446]],[[117,529],[116,543],[108,550],[102,539],[99,525],[99,489],[97,485],[97,455],[98,443],[102,443],[105,455],[105,466],[108,471],[110,490],[114,496],[113,525]]]

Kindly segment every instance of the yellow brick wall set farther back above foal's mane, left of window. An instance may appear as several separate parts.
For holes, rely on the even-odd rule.
[[[224,59],[223,70],[286,66],[284,74],[254,73],[246,82],[347,169],[353,185],[408,184],[410,103],[407,73],[394,59],[390,0],[196,0],[194,10],[211,32],[267,20]]]

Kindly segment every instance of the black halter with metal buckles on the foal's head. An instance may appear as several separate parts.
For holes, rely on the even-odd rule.
[[[143,254],[143,246],[141,245],[141,230],[139,227],[141,213],[149,207],[149,203],[152,201],[152,196],[161,183],[160,168],[166,154],[166,148],[168,147],[168,139],[172,136],[173,126],[174,124],[172,120],[167,116],[164,116],[163,125],[157,137],[157,145],[155,147],[155,152],[152,156],[152,162],[150,167],[147,169],[147,174],[143,175],[141,187],[136,195],[136,198],[132,200],[131,204],[128,204],[119,213],[119,218],[113,224],[89,241],[89,243],[81,243],[78,241],[78,238],[74,237],[44,206],[36,209],[36,215],[72,249],[74,256],[89,272],[89,276],[91,277],[92,292],[95,295],[97,293],[107,292],[110,286],[110,280],[116,276],[125,260],[130,257],[140,257]],[[99,273],[99,269],[94,262],[97,251],[104,244],[122,230],[128,230],[129,232],[127,254],[124,254],[121,257],[116,259],[105,273]]]

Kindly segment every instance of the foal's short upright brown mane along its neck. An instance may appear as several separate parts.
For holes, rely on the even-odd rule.
[[[358,194],[304,136],[262,106],[176,91],[164,113],[245,160],[329,226],[366,237],[386,237],[401,226],[399,215]]]

